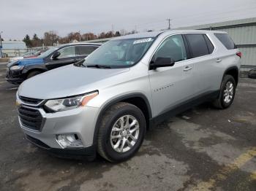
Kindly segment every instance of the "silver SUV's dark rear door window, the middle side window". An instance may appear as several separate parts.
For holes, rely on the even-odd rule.
[[[192,50],[193,58],[209,54],[203,34],[186,34],[186,37]]]

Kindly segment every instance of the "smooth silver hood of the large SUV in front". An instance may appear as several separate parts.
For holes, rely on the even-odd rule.
[[[18,88],[18,95],[39,99],[79,95],[116,83],[115,80],[108,80],[108,83],[104,80],[126,71],[129,68],[95,69],[68,65],[27,79]]]

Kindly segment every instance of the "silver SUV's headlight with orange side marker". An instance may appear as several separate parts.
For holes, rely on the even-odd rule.
[[[98,95],[98,92],[88,93],[86,95],[78,95],[72,98],[62,98],[48,100],[45,106],[54,112],[61,112],[69,109],[75,109],[79,106],[86,106],[86,104],[94,97]]]

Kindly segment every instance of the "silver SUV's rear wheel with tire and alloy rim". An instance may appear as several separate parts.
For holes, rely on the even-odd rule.
[[[213,102],[213,106],[217,109],[228,108],[235,98],[236,81],[231,75],[225,75],[220,86],[219,96]]]

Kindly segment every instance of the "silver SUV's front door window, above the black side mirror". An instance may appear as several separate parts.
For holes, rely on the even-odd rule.
[[[157,58],[173,58],[176,62],[186,60],[187,52],[181,34],[165,39],[154,54],[153,59]]]

